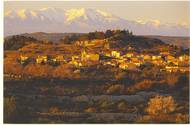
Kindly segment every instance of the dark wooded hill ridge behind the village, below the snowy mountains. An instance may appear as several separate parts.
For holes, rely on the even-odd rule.
[[[91,41],[93,39],[108,39],[110,47],[115,49],[127,49],[128,46],[137,49],[152,49],[158,46],[167,46],[159,39],[135,36],[128,30],[107,30],[106,32],[89,32],[89,33],[25,33],[5,38],[5,49],[19,49],[26,43],[64,43],[71,44],[76,41]],[[14,41],[14,42],[13,42]],[[9,45],[10,44],[10,45]],[[7,46],[9,45],[9,46]],[[17,46],[17,47],[14,47]]]

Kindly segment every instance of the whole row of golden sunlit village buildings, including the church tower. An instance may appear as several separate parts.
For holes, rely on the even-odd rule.
[[[102,58],[103,57],[103,58]],[[27,56],[20,56],[20,63],[24,64],[30,58]],[[168,72],[186,72],[189,71],[189,55],[182,55],[174,57],[169,53],[160,53],[158,55],[138,54],[136,52],[127,52],[122,54],[119,51],[113,50],[105,53],[87,53],[85,49],[79,55],[73,55],[70,59],[65,59],[63,55],[49,57],[46,55],[38,55],[34,60],[37,64],[46,64],[51,62],[69,63],[77,68],[90,66],[94,64],[110,65],[118,67],[123,70],[140,70],[141,65],[154,64],[162,67],[161,71]]]

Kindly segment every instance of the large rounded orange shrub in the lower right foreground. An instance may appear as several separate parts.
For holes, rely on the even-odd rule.
[[[172,96],[156,96],[148,102],[146,112],[150,115],[163,115],[175,111],[176,103]]]

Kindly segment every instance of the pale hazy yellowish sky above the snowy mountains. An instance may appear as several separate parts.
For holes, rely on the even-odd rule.
[[[95,8],[110,12],[128,20],[159,20],[161,23],[178,23],[190,25],[190,2],[106,2],[106,1],[44,1],[44,2],[16,2],[7,1],[4,4],[5,12],[18,9],[55,8]]]

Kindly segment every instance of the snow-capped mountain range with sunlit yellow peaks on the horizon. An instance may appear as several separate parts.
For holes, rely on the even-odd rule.
[[[21,9],[4,14],[5,36],[26,32],[90,32],[129,29],[137,35],[188,36],[189,27],[129,21],[98,9]]]

